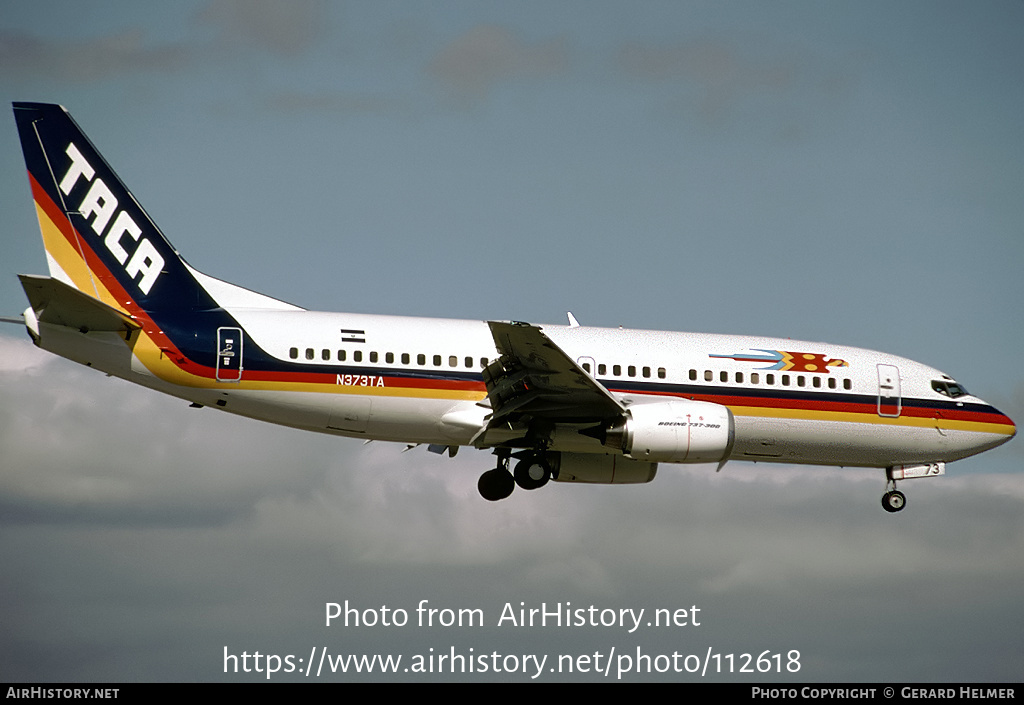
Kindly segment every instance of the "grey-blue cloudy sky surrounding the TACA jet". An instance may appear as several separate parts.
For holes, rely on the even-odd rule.
[[[305,307],[828,340],[1020,419],[1022,20],[1017,2],[8,3],[0,94],[66,106],[191,264]],[[14,315],[15,275],[45,260],[7,128]],[[480,506],[483,454],[190,411],[0,336],[5,679],[217,679],[225,644],[323,642],[342,592],[702,602],[688,644],[802,649],[800,680],[1019,678],[999,627],[1022,616],[1017,442],[911,484],[898,516],[881,472],[741,463]],[[879,627],[908,592],[938,594]]]

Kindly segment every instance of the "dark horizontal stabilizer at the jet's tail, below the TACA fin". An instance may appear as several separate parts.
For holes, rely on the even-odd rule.
[[[82,332],[130,334],[141,326],[126,314],[49,277],[18,275],[40,323],[77,328]],[[127,335],[126,335],[127,337]]]

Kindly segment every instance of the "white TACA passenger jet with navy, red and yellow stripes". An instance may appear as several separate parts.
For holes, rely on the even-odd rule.
[[[899,511],[898,481],[1016,433],[942,372],[856,347],[305,310],[189,266],[63,108],[14,116],[50,273],[20,276],[38,346],[193,406],[489,449],[488,500],[734,459],[885,468]]]

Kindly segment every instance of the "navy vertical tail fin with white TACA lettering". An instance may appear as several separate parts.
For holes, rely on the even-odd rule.
[[[62,107],[15,102],[14,119],[50,277],[128,315],[209,310],[224,298],[294,308],[188,266]]]

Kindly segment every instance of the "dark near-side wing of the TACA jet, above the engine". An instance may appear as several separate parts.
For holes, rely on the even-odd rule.
[[[626,408],[540,326],[488,321],[501,357],[483,370],[494,412],[488,427],[547,423],[601,423]]]

